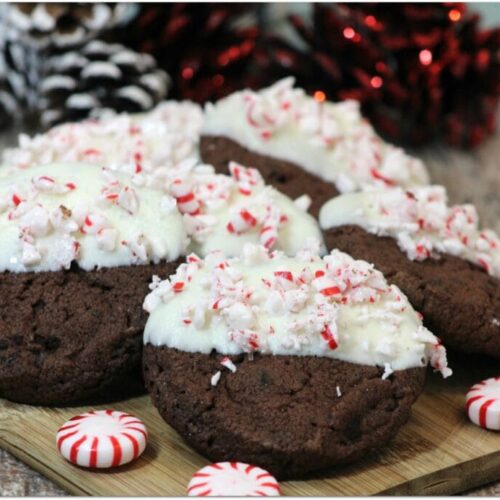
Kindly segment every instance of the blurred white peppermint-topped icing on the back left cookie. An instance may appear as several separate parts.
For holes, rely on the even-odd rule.
[[[141,115],[112,115],[102,120],[68,123],[6,150],[0,176],[13,169],[54,162],[85,162],[125,173],[151,174],[196,157],[203,114],[190,102],[166,101]]]

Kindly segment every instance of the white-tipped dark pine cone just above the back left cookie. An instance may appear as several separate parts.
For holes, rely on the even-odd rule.
[[[40,121],[51,127],[110,110],[147,111],[165,98],[169,82],[151,56],[95,40],[48,59],[40,84]]]

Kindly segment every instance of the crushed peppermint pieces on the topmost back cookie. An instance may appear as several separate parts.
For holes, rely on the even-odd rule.
[[[318,156],[324,158],[325,165],[341,166],[336,172],[330,168],[334,179],[328,179],[334,180],[341,192],[428,182],[423,163],[382,141],[362,117],[356,101],[317,102],[302,89],[294,88],[294,83],[294,78],[288,77],[268,88],[237,92],[216,103],[207,112],[208,133],[212,115],[218,123],[219,111],[237,113],[241,109],[244,126],[255,131],[265,147],[273,144],[275,138],[280,139],[276,143],[280,146],[275,146],[276,154],[286,156],[289,152],[284,150],[283,138],[289,134],[290,142],[296,141],[298,134],[299,140],[320,150]],[[231,132],[228,129],[227,133]],[[316,168],[321,170],[321,165]],[[319,175],[322,174],[320,171]]]

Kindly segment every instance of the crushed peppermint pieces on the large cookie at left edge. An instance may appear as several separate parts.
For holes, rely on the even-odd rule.
[[[92,254],[91,240],[105,254],[117,255],[121,248],[126,248],[131,264],[159,261],[167,256],[168,249],[161,238],[150,233],[147,237],[127,227],[128,217],[139,216],[139,188],[130,186],[126,178],[109,169],[94,165],[82,168],[82,176],[77,169],[68,173],[64,165],[55,164],[34,168],[33,176],[30,170],[19,170],[2,179],[0,217],[19,234],[19,256],[14,252],[3,256],[1,265],[5,269],[68,269],[72,262],[80,262],[84,240],[88,244],[83,257],[92,267],[112,259]],[[40,171],[47,173],[38,175]],[[60,181],[61,177],[74,180]],[[94,194],[90,194],[92,190]],[[163,204],[167,196],[160,196]],[[125,217],[114,216],[113,223],[111,207],[123,210]],[[123,263],[126,257],[117,258]]]

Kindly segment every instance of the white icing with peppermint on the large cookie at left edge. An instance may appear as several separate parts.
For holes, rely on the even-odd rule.
[[[0,272],[172,261],[187,244],[174,200],[90,164],[0,178],[0,239]]]

